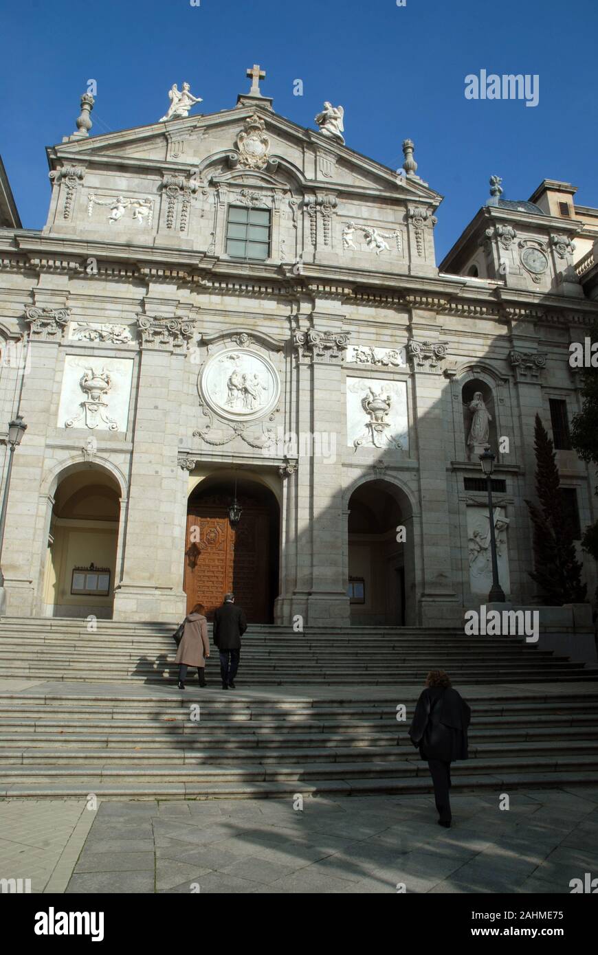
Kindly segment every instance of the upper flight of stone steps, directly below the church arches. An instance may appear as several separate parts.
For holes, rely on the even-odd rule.
[[[174,626],[4,617],[0,675],[63,681],[175,682]],[[209,628],[211,631],[211,627]],[[210,632],[211,643],[211,632]],[[352,626],[335,633],[310,627],[251,626],[243,639],[243,688],[306,683],[421,685],[431,668],[455,683],[594,681],[598,668],[539,650],[517,637],[471,637],[459,629]],[[206,676],[218,683],[216,648]],[[195,678],[195,677],[194,677]]]

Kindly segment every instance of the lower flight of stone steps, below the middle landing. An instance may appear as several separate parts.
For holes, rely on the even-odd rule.
[[[112,691],[5,691],[0,796],[231,798],[430,789],[427,766],[407,737],[415,693],[404,723],[396,722],[400,691],[357,701],[351,693],[219,695],[199,688],[135,699]],[[579,697],[524,690],[499,701],[478,698],[475,690],[465,695],[474,714],[470,758],[454,764],[454,788],[508,792],[598,783],[593,688]]]

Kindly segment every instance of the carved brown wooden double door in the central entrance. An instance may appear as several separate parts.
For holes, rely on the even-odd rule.
[[[203,604],[208,620],[231,591],[246,611],[247,621],[272,619],[273,560],[271,512],[263,505],[240,500],[243,513],[236,528],[219,499],[192,505],[187,514],[184,583],[187,612]]]

